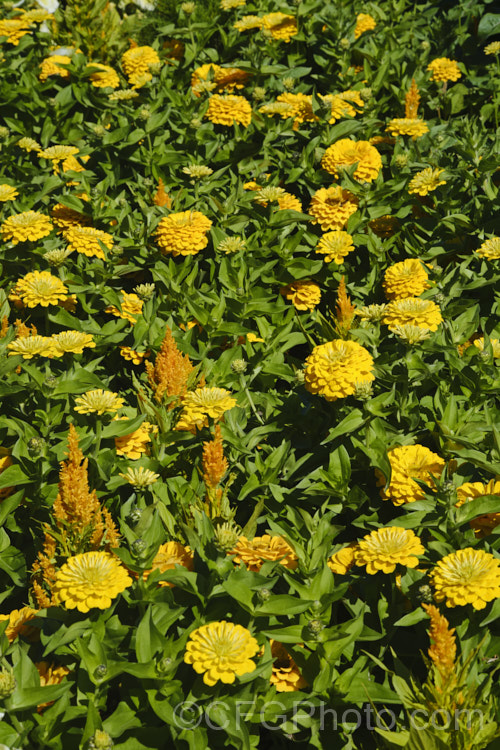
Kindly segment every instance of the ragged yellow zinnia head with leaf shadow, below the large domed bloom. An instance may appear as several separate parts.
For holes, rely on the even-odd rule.
[[[387,488],[385,478],[379,469],[375,469],[378,486],[382,486],[380,495],[383,500],[392,500],[394,505],[413,503],[422,500],[425,491],[414,481],[419,479],[434,487],[434,478],[441,476],[445,466],[441,456],[433,453],[423,445],[398,445],[387,452],[391,464],[391,481]]]

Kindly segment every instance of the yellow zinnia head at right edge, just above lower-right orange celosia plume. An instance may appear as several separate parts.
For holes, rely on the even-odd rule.
[[[430,574],[437,602],[447,607],[472,604],[484,609],[488,602],[500,597],[500,564],[489,552],[459,549],[440,560]]]

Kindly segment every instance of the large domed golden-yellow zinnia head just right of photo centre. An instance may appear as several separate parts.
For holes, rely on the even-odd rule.
[[[315,346],[305,362],[304,385],[327,401],[351,396],[359,383],[375,380],[371,354],[356,341],[335,339]]]

